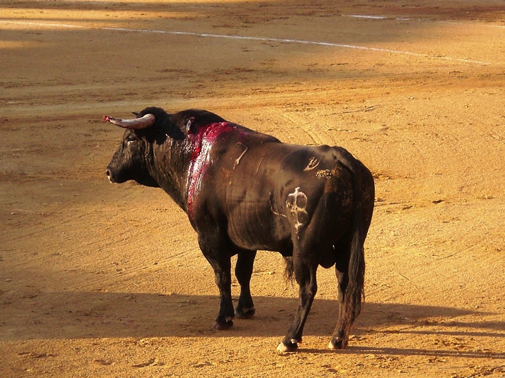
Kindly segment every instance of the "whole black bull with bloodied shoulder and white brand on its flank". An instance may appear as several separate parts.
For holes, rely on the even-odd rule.
[[[215,328],[254,315],[249,282],[256,251],[273,250],[299,285],[299,306],[278,349],[292,351],[301,342],[319,265],[335,265],[339,311],[329,347],[345,348],[364,298],[363,244],[374,207],[370,171],[343,148],[281,143],[208,111],[168,114],[153,107],[135,114],[134,120],[104,117],[127,129],[107,175],[111,182],[161,187],[186,212],[216,275]]]

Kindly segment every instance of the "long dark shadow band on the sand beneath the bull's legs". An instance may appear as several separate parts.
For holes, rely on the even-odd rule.
[[[217,296],[162,295],[109,292],[36,292],[3,294],[0,341],[121,337],[282,337],[292,320],[296,298],[256,297],[256,316],[235,320],[228,331],[214,331]],[[330,337],[336,323],[337,302],[317,299],[305,335]],[[352,333],[409,325],[427,319],[456,318],[476,311],[414,304],[366,302]],[[437,323],[430,321],[431,326]],[[440,324],[453,327],[451,335],[505,337],[503,322]],[[479,328],[479,332],[461,329]],[[394,331],[391,331],[394,332]],[[403,331],[398,331],[403,332]],[[416,331],[424,332],[424,331]],[[433,332],[432,332],[433,333]],[[436,332],[437,334],[440,332]],[[442,332],[443,333],[443,332]],[[505,358],[505,357],[504,357]]]

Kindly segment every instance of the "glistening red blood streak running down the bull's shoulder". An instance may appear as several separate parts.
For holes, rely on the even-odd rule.
[[[236,124],[231,122],[211,123],[198,128],[195,134],[188,134],[192,144],[191,160],[187,176],[187,206],[189,215],[193,218],[193,205],[201,189],[201,183],[211,161],[211,150],[219,137],[236,129]]]

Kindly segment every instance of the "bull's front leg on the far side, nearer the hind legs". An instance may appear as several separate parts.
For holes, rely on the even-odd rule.
[[[254,303],[250,291],[252,265],[256,257],[255,250],[243,250],[238,253],[235,265],[235,276],[240,284],[240,297],[238,298],[235,316],[238,319],[252,318],[255,314]]]

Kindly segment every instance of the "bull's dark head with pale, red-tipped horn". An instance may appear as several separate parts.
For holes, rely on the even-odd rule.
[[[142,185],[159,186],[150,173],[148,160],[153,156],[153,142],[163,143],[166,135],[160,133],[160,129],[155,125],[157,117],[148,112],[149,110],[157,109],[144,109],[140,113],[134,113],[137,115],[134,119],[104,116],[104,121],[126,129],[123,141],[107,166],[106,173],[111,182],[135,180]],[[163,139],[160,138],[161,134]]]

